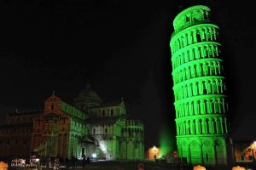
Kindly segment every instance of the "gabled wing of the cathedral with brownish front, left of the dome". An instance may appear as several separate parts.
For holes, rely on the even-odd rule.
[[[88,116],[55,95],[44,102],[44,112],[33,119],[32,151],[41,156],[81,156],[80,141],[88,134]]]

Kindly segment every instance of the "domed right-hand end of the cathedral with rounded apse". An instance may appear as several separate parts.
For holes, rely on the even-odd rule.
[[[94,139],[90,155],[107,160],[137,160],[144,158],[143,122],[127,118],[123,99],[102,99],[90,88],[84,89],[73,102],[77,108],[88,112],[86,120],[89,136]]]

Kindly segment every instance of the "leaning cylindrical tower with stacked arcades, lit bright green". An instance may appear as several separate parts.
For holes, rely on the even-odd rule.
[[[173,20],[172,77],[177,151],[191,164],[220,165],[232,160],[230,124],[218,26],[210,8],[185,8]]]

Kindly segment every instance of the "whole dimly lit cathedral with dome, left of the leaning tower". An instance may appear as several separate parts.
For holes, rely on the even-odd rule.
[[[53,94],[43,111],[15,111],[0,126],[0,156],[144,158],[143,122],[128,118],[123,99],[103,100],[90,88],[67,104]]]

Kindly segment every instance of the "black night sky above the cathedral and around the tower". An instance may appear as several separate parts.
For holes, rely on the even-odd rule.
[[[186,2],[186,3],[184,3]],[[144,122],[146,147],[175,135],[169,42],[179,7],[205,4],[220,27],[234,139],[256,139],[256,19],[247,1],[38,0],[0,3],[0,115],[43,108],[52,90],[72,103],[90,84]],[[195,2],[195,1],[194,1]]]

